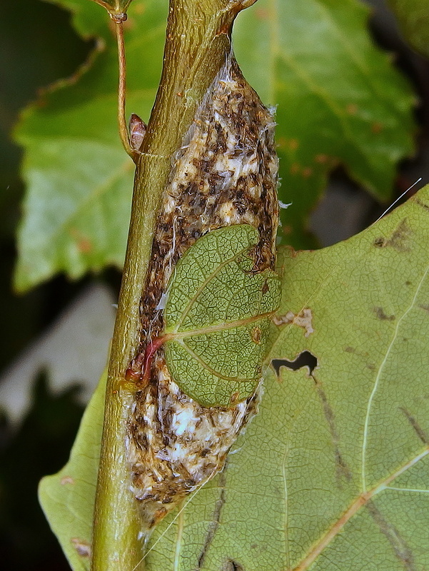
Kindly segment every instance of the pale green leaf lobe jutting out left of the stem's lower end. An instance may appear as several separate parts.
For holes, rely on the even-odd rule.
[[[39,484],[39,501],[74,571],[89,571],[106,372],[85,410],[69,462]]]

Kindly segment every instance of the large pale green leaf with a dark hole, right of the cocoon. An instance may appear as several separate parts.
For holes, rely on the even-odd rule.
[[[429,567],[428,228],[426,187],[348,241],[281,249],[259,413],[223,473],[156,528],[148,571]],[[96,458],[83,435],[99,415],[86,415],[81,455],[41,487],[63,545],[81,537],[67,514],[94,501]],[[61,485],[71,470],[93,475],[85,497]]]

